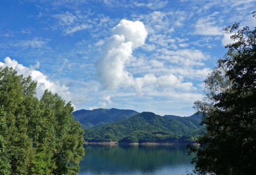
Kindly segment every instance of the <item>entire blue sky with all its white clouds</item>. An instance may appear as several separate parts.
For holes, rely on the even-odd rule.
[[[1,0],[0,66],[37,81],[75,110],[192,115],[204,79],[256,26],[256,0]]]

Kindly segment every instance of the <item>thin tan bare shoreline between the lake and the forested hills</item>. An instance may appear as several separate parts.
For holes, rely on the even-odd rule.
[[[84,145],[106,145],[106,146],[117,146],[117,145],[129,145],[129,146],[160,146],[160,145],[165,145],[165,146],[174,146],[174,145],[194,145],[194,146],[199,146],[197,143],[182,143],[182,142],[163,142],[163,143],[157,143],[157,142],[147,142],[147,143],[118,143],[117,141],[109,141],[109,142],[88,142],[85,141]]]

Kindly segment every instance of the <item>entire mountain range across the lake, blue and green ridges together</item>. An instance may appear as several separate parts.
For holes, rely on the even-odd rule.
[[[87,142],[191,142],[204,130],[200,126],[202,113],[161,116],[112,108],[78,110],[73,114],[75,120],[82,123]]]

